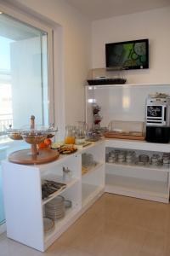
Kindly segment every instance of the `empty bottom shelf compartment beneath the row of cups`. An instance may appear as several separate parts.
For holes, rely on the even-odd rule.
[[[162,202],[168,202],[169,197],[166,182],[151,181],[137,177],[124,177],[115,174],[106,174],[105,191]]]

